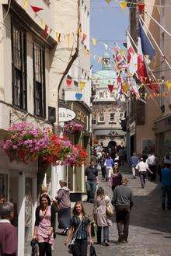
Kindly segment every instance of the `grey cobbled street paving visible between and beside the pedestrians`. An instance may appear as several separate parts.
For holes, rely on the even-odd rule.
[[[130,233],[127,244],[117,244],[115,221],[110,228],[110,247],[96,245],[97,255],[120,256],[171,256],[171,212],[161,209],[161,187],[159,182],[147,181],[145,189],[139,178],[132,179],[131,170],[124,166],[122,174],[129,178],[129,186],[134,193],[134,208],[131,212]],[[111,195],[110,188],[100,176],[100,185]],[[86,212],[92,214],[92,204],[84,203]],[[54,255],[68,255],[64,245],[65,237],[57,235]],[[96,243],[96,239],[95,239]]]

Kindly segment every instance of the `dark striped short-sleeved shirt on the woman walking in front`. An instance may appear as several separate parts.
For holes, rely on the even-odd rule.
[[[79,227],[79,230],[77,231],[75,236],[75,240],[87,239],[88,237],[87,226],[90,224],[89,218],[84,217],[84,219],[82,219],[81,225],[79,226],[80,222],[81,222],[81,219],[79,219],[79,216],[72,216],[70,226],[74,228],[74,234],[77,228]]]

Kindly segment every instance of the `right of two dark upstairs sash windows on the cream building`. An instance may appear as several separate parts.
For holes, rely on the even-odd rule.
[[[33,44],[34,114],[45,117],[45,62],[44,49]]]

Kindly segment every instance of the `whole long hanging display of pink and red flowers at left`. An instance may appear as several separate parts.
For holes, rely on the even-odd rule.
[[[29,163],[39,159],[52,165],[82,165],[87,153],[81,146],[74,146],[65,137],[54,135],[50,130],[37,128],[32,123],[22,122],[9,128],[2,149],[10,160]]]

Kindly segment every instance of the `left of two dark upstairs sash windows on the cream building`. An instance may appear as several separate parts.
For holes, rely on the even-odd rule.
[[[13,24],[12,104],[26,110],[26,32]]]

